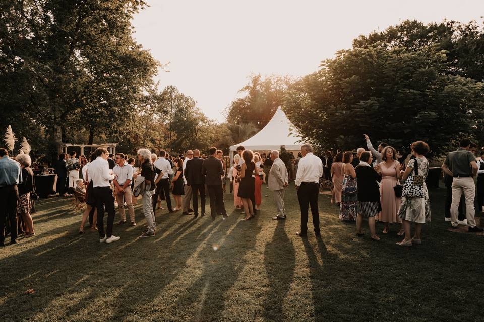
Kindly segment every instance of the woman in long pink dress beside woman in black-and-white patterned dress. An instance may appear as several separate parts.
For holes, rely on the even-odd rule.
[[[396,159],[396,150],[387,146],[382,150],[382,162],[379,164],[382,174],[382,181],[380,186],[380,201],[382,204],[382,212],[379,220],[384,223],[383,233],[388,233],[390,223],[402,223],[398,217],[398,210],[400,209],[401,198],[395,196],[395,187],[398,184],[400,175],[400,163]],[[404,231],[400,227],[398,235],[403,235]]]

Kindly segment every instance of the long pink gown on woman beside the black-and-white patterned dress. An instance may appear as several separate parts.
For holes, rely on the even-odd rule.
[[[395,168],[398,164],[398,161],[394,160],[393,164],[387,168],[386,162],[380,162],[382,170],[382,186],[380,187],[382,212],[380,213],[379,220],[387,223],[402,222],[398,217],[401,198],[395,197],[395,191],[393,190],[393,187],[398,182],[397,174],[395,172]]]

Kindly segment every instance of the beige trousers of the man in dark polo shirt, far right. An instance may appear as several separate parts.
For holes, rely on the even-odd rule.
[[[454,178],[452,181],[452,205],[450,206],[450,217],[452,218],[452,226],[457,227],[459,223],[457,218],[459,216],[459,202],[460,197],[464,193],[465,198],[465,212],[467,218],[467,225],[475,227],[474,219],[474,197],[475,185],[473,178]]]

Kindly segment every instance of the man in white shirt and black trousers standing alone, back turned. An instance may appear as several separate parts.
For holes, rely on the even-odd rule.
[[[321,236],[319,229],[319,178],[323,176],[323,163],[313,154],[311,144],[302,144],[302,158],[299,160],[296,175],[297,199],[301,208],[301,230],[296,232],[300,237],[308,236],[308,204],[311,206],[313,216],[314,234]]]

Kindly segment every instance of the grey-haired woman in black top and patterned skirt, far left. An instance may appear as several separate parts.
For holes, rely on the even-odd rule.
[[[35,235],[34,223],[30,215],[30,209],[32,209],[30,193],[34,191],[34,172],[30,169],[32,159],[28,154],[19,154],[16,159],[22,168],[22,183],[18,185],[19,200],[17,202],[17,214],[22,217],[25,224],[24,237],[32,237]]]

